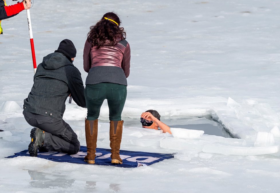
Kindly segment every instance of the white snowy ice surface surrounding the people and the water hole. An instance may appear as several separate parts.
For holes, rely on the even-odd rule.
[[[40,0],[33,5],[37,64],[68,38],[84,81],[82,54],[90,25],[106,12],[120,15],[131,46],[121,149],[173,153],[174,159],[129,169],[5,158],[27,149],[30,141],[31,126],[21,113],[33,84],[23,11],[1,23],[0,192],[279,191],[280,3]],[[100,148],[109,148],[105,103],[98,123]],[[157,110],[167,125],[212,117],[235,138],[141,128],[139,116],[148,109]],[[84,117],[86,109],[66,102],[64,119],[81,145],[86,145]]]

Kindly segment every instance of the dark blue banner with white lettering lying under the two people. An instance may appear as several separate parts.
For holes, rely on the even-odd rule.
[[[95,165],[103,166],[117,166],[122,168],[136,168],[139,166],[149,166],[155,164],[164,159],[173,158],[171,154],[165,153],[150,153],[143,151],[126,151],[120,150],[120,157],[123,159],[123,164],[111,164],[111,149],[96,148]],[[29,156],[28,150],[15,153],[7,158],[17,156]],[[40,158],[48,159],[54,162],[69,162],[75,164],[87,164],[84,162],[86,156],[86,147],[81,146],[80,151],[77,154],[69,155],[66,153],[59,153],[57,151],[40,152],[38,156]]]

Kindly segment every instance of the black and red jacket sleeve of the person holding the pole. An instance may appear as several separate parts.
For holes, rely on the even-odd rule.
[[[0,20],[13,17],[23,10],[24,5],[22,2],[15,5],[5,6],[5,1],[0,0]]]

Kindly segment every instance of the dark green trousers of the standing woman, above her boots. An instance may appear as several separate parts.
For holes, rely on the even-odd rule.
[[[88,109],[88,120],[98,119],[100,108],[105,99],[109,107],[109,120],[121,121],[121,113],[127,96],[127,86],[103,82],[99,84],[88,84],[84,90],[86,107]]]

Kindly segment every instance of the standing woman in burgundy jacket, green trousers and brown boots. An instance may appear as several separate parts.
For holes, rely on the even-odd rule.
[[[122,164],[119,149],[123,133],[121,113],[127,96],[130,68],[130,46],[115,13],[105,13],[90,27],[84,45],[85,98],[88,108],[85,119],[87,155],[84,161],[94,164],[100,108],[107,99],[110,119],[111,163]]]

